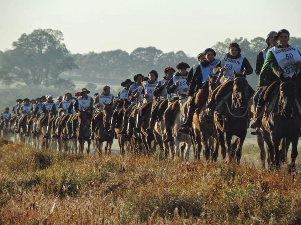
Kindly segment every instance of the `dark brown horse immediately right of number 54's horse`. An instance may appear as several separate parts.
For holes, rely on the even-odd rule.
[[[111,154],[113,136],[108,134],[110,121],[113,115],[113,107],[110,104],[103,103],[103,111],[99,113],[98,122],[94,133],[98,155],[102,154],[103,142],[106,142],[105,154]]]

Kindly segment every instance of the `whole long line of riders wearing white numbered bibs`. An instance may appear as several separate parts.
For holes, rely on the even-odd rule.
[[[256,74],[259,76],[258,90],[253,95],[255,101],[255,120],[251,124],[251,128],[260,128],[262,126],[261,119],[264,112],[265,100],[264,95],[267,88],[275,81],[290,81],[294,74],[297,74],[298,66],[301,63],[301,55],[297,47],[288,44],[289,32],[282,29],[278,32],[271,31],[267,35],[267,47],[263,49],[257,56],[256,61]],[[192,97],[187,115],[185,116],[182,128],[179,130],[182,133],[188,133],[192,126],[193,114],[197,108],[195,104],[196,93],[200,88],[203,88],[209,81],[209,74],[211,77],[217,77],[216,83],[219,86],[211,94],[209,103],[207,104],[207,113],[203,115],[206,123],[210,123],[213,118],[213,113],[218,101],[215,96],[219,89],[225,83],[235,79],[234,72],[238,76],[244,76],[253,73],[253,69],[248,59],[241,55],[240,46],[237,43],[230,43],[229,52],[221,59],[215,58],[216,53],[214,49],[207,48],[203,53],[197,57],[198,64],[190,66],[187,63],[181,62],[176,66],[177,71],[171,66],[164,68],[164,77],[158,81],[158,73],[151,70],[147,77],[142,74],[134,76],[134,82],[126,79],[121,83],[123,87],[118,95],[114,96],[110,93],[110,87],[103,87],[103,92],[95,93],[95,98],[88,96],[90,91],[83,88],[80,92],[75,92],[74,97],[71,93],[66,93],[64,96],[58,96],[56,101],[50,95],[42,96],[29,101],[28,98],[17,99],[17,104],[13,107],[12,113],[17,116],[15,120],[15,133],[20,132],[20,124],[24,118],[30,117],[27,124],[26,136],[29,135],[29,128],[31,121],[35,120],[32,132],[34,134],[40,133],[39,122],[43,120],[49,113],[53,115],[52,119],[48,122],[45,138],[49,137],[50,129],[52,129],[53,137],[59,137],[61,133],[60,121],[64,116],[69,115],[67,120],[68,136],[66,138],[75,138],[77,127],[77,112],[87,113],[88,120],[91,121],[91,136],[94,138],[94,132],[97,129],[95,114],[103,110],[103,105],[109,103],[115,106],[115,111],[112,115],[111,126],[108,129],[109,135],[114,135],[114,128],[117,123],[122,124],[122,129],[119,131],[120,135],[131,137],[133,130],[141,132],[141,115],[137,113],[136,122],[133,123],[129,120],[129,116],[135,108],[143,107],[146,103],[152,102],[156,98],[156,103],[151,111],[149,126],[146,129],[148,134],[154,130],[154,125],[157,120],[161,120],[163,115],[158,114],[158,109],[167,115],[172,110],[171,104],[174,100],[183,98],[182,96]],[[251,87],[249,87],[251,90]],[[250,91],[252,92],[252,91]],[[254,91],[253,91],[254,93]],[[227,95],[228,93],[224,93]],[[185,98],[186,98],[185,97]],[[251,96],[250,96],[251,99]],[[119,118],[119,110],[122,108],[123,103],[128,102],[129,107],[123,114],[123,118]],[[96,112],[96,113],[95,113]],[[172,114],[168,114],[171,115]],[[11,114],[9,108],[1,115],[3,121],[9,122]],[[121,121],[120,121],[121,120]],[[167,143],[173,139],[172,128],[170,120],[165,120],[166,137],[163,142]]]

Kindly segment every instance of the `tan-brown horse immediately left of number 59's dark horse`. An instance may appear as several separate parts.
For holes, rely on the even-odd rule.
[[[198,90],[195,98],[197,112],[193,116],[193,131],[196,143],[194,158],[198,160],[202,150],[201,143],[204,147],[203,157],[206,160],[216,161],[218,157],[219,142],[216,127],[212,120],[208,124],[203,119],[203,115],[206,113],[206,102],[209,102],[213,90],[217,87],[216,80],[217,77],[212,77],[209,73],[209,81],[204,83],[203,87]],[[225,153],[223,154],[224,157]]]

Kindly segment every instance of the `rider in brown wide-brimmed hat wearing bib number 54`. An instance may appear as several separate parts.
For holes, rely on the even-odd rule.
[[[94,109],[93,107],[93,98],[88,96],[90,91],[87,90],[87,88],[82,88],[81,92],[79,93],[79,97],[75,100],[73,107],[75,112],[84,112],[87,114],[87,119],[89,122],[92,118],[92,111]],[[70,139],[76,138],[76,124],[78,122],[77,116],[72,120],[72,135]]]

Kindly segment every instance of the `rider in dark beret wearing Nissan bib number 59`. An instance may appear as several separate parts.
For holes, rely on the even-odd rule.
[[[220,78],[221,84],[228,80],[234,80],[233,71],[235,71],[237,74],[242,74],[245,70],[246,75],[253,73],[253,68],[251,67],[251,64],[249,63],[247,58],[241,56],[241,49],[237,43],[230,43],[228,49],[229,52],[225,56],[223,56],[219,63],[216,64],[213,68],[213,73],[220,73],[220,75],[223,73],[223,76]],[[220,86],[221,85],[219,85],[212,92],[210,101],[207,105],[207,108],[209,110],[206,114],[203,115],[203,118],[205,119],[206,123],[210,123],[211,121],[212,113],[214,112],[216,102],[215,95],[218,92]]]

